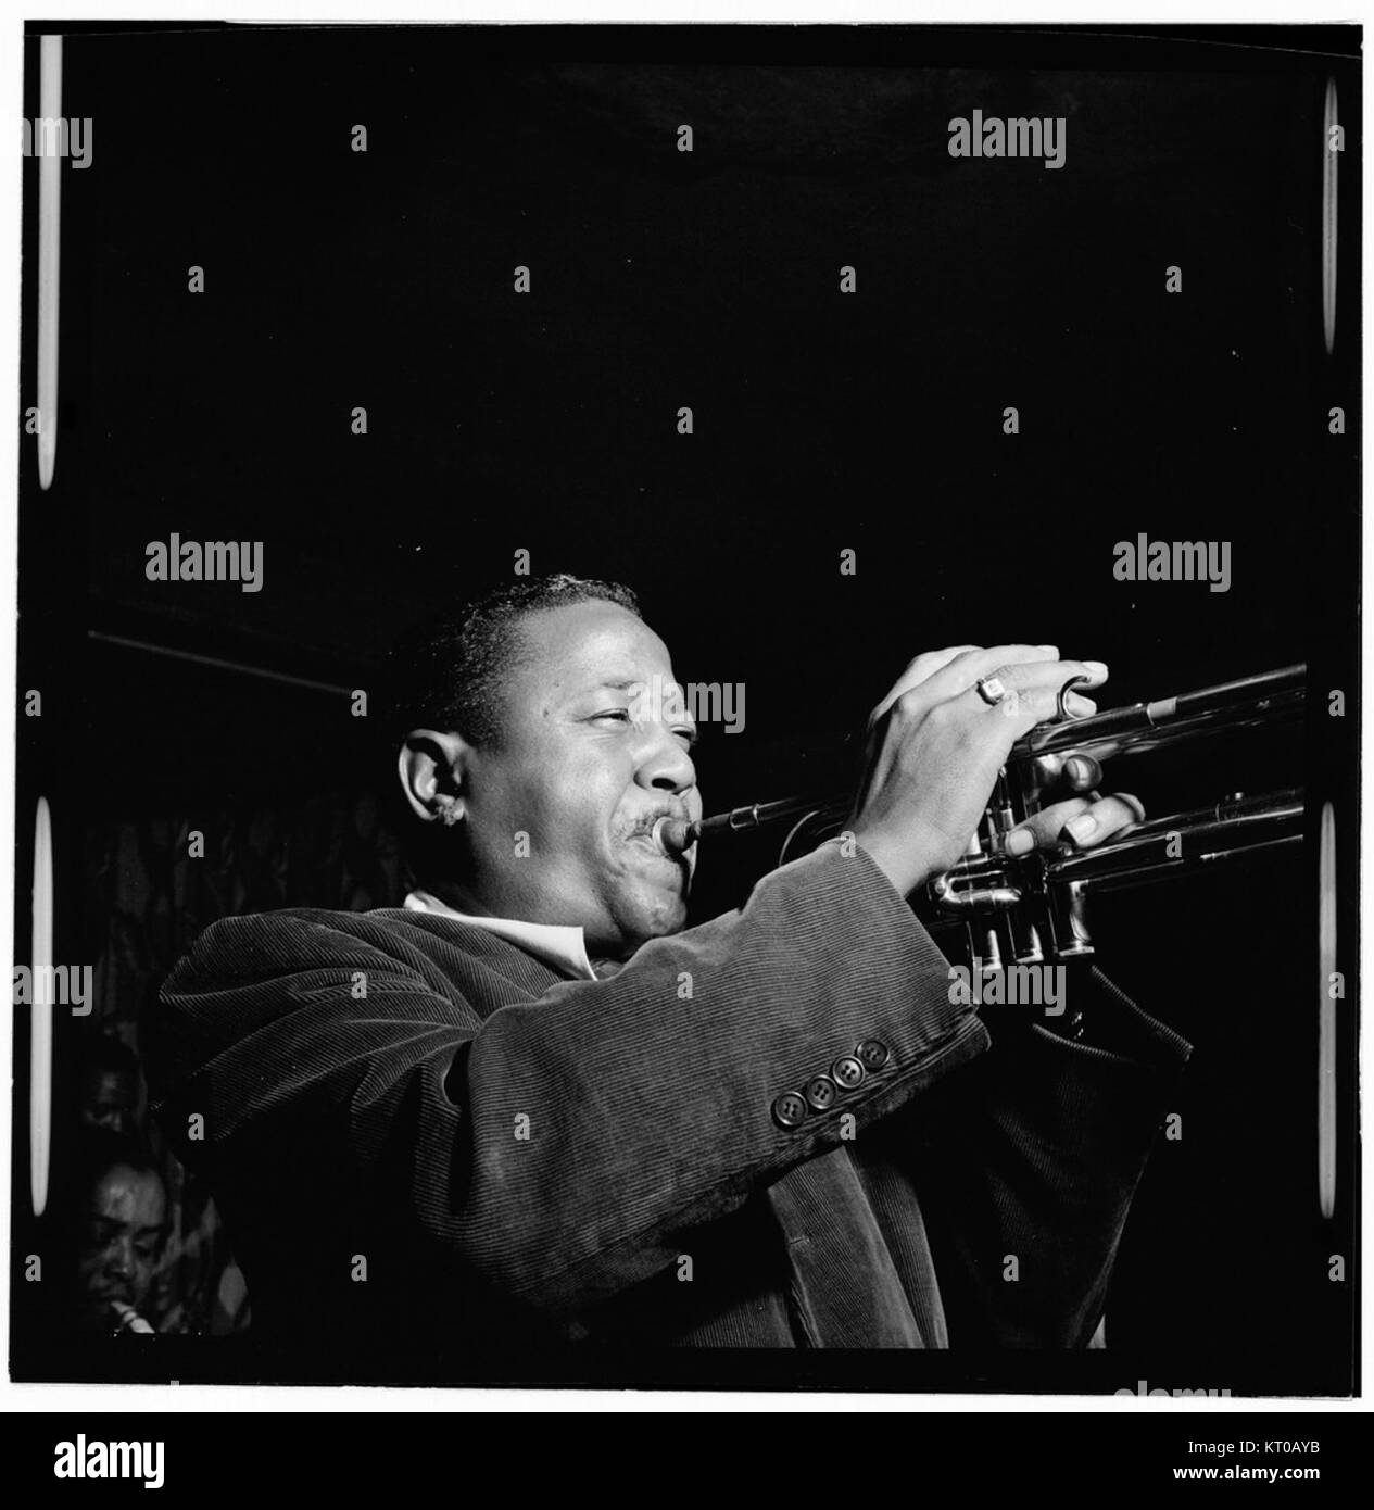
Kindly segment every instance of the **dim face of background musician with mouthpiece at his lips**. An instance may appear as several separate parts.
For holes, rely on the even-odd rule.
[[[152,1170],[113,1164],[91,1187],[77,1265],[82,1318],[112,1320],[112,1302],[140,1311],[162,1255],[166,1196]]]

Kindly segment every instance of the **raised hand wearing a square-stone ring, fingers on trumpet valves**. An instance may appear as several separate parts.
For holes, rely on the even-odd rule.
[[[980,678],[1004,701],[989,707]],[[1058,658],[1054,645],[959,645],[918,655],[868,719],[868,760],[847,823],[901,895],[950,870],[981,821],[1012,744],[1055,716],[1060,687],[1107,681],[1101,661]],[[1072,692],[1067,711],[1096,704]]]

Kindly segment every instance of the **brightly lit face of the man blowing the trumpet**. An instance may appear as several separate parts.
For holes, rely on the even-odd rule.
[[[412,735],[450,761],[427,793],[412,776],[412,806],[424,811],[417,794],[427,796],[430,820],[464,830],[465,876],[436,889],[465,911],[580,924],[593,957],[625,959],[687,918],[695,850],[666,855],[652,829],[664,815],[701,817],[696,731],[667,695],[667,646],[618,604],[544,609],[518,633],[525,654],[501,689],[494,744]],[[654,687],[664,696],[648,696]]]

